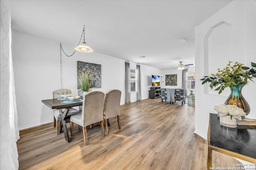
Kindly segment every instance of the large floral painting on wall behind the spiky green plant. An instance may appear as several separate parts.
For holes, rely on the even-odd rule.
[[[93,80],[91,88],[101,88],[101,64],[77,61],[77,77],[81,72],[88,74],[89,79]],[[79,88],[78,80],[77,88]]]

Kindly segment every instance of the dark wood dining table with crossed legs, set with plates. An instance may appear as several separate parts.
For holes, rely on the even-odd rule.
[[[81,99],[83,99],[81,97]],[[68,143],[70,143],[70,138],[69,138],[69,135],[68,135],[68,128],[67,128],[67,125],[66,125],[66,119],[67,119],[67,115],[68,115],[68,111],[70,109],[72,109],[72,107],[75,107],[75,106],[82,106],[83,102],[82,100],[79,100],[77,102],[72,102],[72,103],[65,103],[64,101],[67,101],[67,100],[59,100],[59,99],[47,99],[47,100],[42,100],[42,103],[45,104],[46,106],[50,107],[51,109],[58,109],[60,111],[60,118],[61,118],[61,125],[63,127],[63,130],[64,130],[64,136],[65,136],[65,139],[66,141],[68,141]],[[64,109],[64,111],[62,110]],[[76,111],[76,112],[72,112],[69,114],[70,115],[74,115],[74,114],[77,114],[77,113],[81,113],[82,111]],[[60,129],[60,131],[62,131],[62,129]]]

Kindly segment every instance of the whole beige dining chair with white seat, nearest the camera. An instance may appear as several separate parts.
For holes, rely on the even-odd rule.
[[[74,123],[82,126],[84,135],[84,145],[88,145],[86,126],[100,122],[102,136],[104,137],[103,127],[103,107],[104,107],[103,92],[93,91],[83,94],[82,113],[71,115],[71,136],[74,131]]]

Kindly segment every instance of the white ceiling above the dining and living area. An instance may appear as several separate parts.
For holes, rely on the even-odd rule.
[[[76,47],[85,25],[95,52],[164,69],[194,64],[194,27],[231,0],[10,2],[14,31]]]

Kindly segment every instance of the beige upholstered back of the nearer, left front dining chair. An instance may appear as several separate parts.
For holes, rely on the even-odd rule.
[[[105,94],[99,91],[83,94],[82,123],[85,126],[103,121]]]

